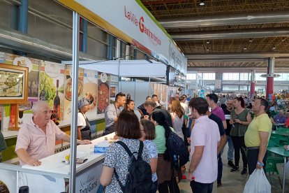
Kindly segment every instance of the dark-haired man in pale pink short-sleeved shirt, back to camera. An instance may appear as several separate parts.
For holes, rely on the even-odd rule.
[[[217,147],[221,140],[218,124],[206,115],[209,105],[200,97],[191,99],[195,125],[191,133],[191,163],[188,172],[195,176],[191,181],[193,192],[212,192],[218,174]]]

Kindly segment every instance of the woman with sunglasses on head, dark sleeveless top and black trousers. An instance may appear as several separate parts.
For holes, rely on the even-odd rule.
[[[235,167],[231,169],[231,172],[239,171],[239,159],[240,150],[243,160],[243,170],[242,175],[247,173],[247,159],[243,148],[246,148],[244,136],[248,129],[248,125],[251,122],[251,115],[249,110],[245,107],[245,101],[241,97],[236,97],[234,99],[235,110],[231,111],[230,124],[232,124],[230,136],[232,138],[232,143],[235,149]]]

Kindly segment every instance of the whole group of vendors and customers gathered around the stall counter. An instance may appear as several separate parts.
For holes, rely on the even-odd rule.
[[[221,101],[219,105],[218,101]],[[89,120],[85,116],[89,103],[81,99],[78,103],[77,143],[91,143]],[[138,106],[141,117],[135,115],[135,103],[126,94],[117,94],[114,103],[105,109],[105,131],[103,135],[115,132],[119,141],[131,152],[140,152],[144,162],[150,166],[151,192],[179,192],[178,180],[188,173],[193,192],[212,192],[214,182],[222,186],[223,162],[221,155],[228,143],[228,165],[231,172],[239,172],[240,152],[242,155],[242,175],[255,169],[265,169],[267,143],[272,129],[272,121],[267,115],[269,108],[265,99],[254,100],[251,110],[246,108],[243,97],[225,99],[216,94],[206,98],[188,99],[172,97],[169,110],[158,103],[156,94],[147,96]],[[15,152],[20,164],[39,166],[39,159],[54,154],[55,140],[70,141],[50,120],[51,111],[45,101],[39,101],[32,108],[33,117],[21,127],[17,137]],[[280,112],[279,112],[280,113]],[[281,120],[282,112],[277,116]],[[188,144],[190,163],[176,169],[168,150],[168,138],[174,132]],[[105,192],[122,192],[127,183],[131,157],[126,148],[113,143],[105,154],[101,185]],[[248,151],[248,154],[245,154]],[[237,175],[237,174],[236,174]]]

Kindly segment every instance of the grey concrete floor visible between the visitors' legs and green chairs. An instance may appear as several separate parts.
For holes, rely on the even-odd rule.
[[[222,155],[222,161],[223,161],[223,178],[222,178],[222,187],[216,188],[216,191],[213,192],[218,192],[218,193],[232,193],[232,192],[243,192],[244,186],[246,184],[246,180],[248,178],[248,175],[241,175],[241,171],[237,173],[231,173],[230,169],[231,167],[228,166],[228,160],[227,160],[227,150],[228,150],[228,145],[225,146],[224,152]],[[240,160],[242,162],[242,158]],[[239,164],[242,166],[242,163]],[[281,182],[283,180],[283,164],[277,164],[279,173],[280,173],[280,178]],[[188,166],[186,166],[188,169]],[[242,170],[242,168],[240,168]],[[269,177],[267,177],[269,178]],[[281,190],[281,185],[279,183],[278,175],[274,173],[274,175],[270,176],[271,178],[271,186],[272,186],[272,193],[278,193],[282,192]],[[270,182],[270,180],[269,180]],[[289,163],[287,164],[286,167],[286,188],[285,192],[289,192]],[[190,183],[186,180],[181,180],[179,183],[179,189],[181,190],[182,193],[184,192],[192,192]],[[198,193],[198,192],[197,192]]]

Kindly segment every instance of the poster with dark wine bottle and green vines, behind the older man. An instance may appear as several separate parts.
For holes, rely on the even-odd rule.
[[[56,124],[64,120],[64,72],[64,65],[41,61],[38,99],[47,101]]]

